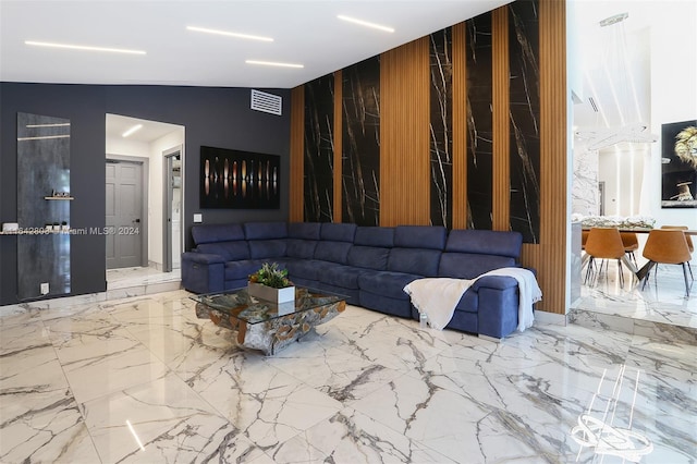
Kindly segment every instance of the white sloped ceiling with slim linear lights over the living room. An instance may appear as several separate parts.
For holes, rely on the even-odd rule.
[[[510,0],[0,0],[0,81],[292,88]],[[338,14],[393,27],[343,22]],[[186,26],[272,37],[201,34]],[[146,51],[44,48],[25,40]],[[303,69],[245,60],[302,63]]]

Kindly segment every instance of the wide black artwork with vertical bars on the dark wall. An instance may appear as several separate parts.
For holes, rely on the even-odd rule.
[[[200,147],[200,208],[279,209],[281,157]]]

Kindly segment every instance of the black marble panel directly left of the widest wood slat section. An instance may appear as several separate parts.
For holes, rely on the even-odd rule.
[[[380,57],[343,70],[342,220],[380,224]]]

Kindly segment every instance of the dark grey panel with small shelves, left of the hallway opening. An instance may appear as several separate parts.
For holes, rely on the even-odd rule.
[[[70,225],[70,120],[17,113],[17,298],[71,291],[70,234],[47,231]],[[46,199],[48,198],[48,199]]]

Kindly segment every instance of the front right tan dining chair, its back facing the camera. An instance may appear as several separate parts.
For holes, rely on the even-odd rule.
[[[653,281],[658,288],[658,264],[664,265],[682,265],[683,277],[685,278],[685,292],[689,296],[690,282],[687,279],[686,266],[692,258],[689,248],[687,247],[686,235],[682,230],[677,229],[655,229],[649,232],[649,237],[644,245],[644,257],[649,260],[648,272],[644,278],[644,284],[641,290],[646,288],[646,283],[651,276],[651,268],[653,271]],[[689,270],[692,277],[692,269]]]

